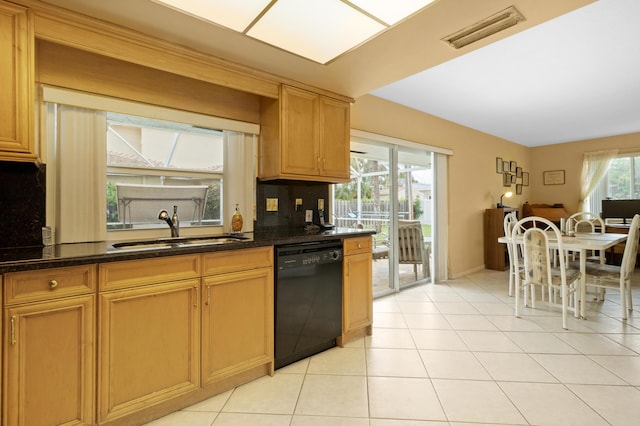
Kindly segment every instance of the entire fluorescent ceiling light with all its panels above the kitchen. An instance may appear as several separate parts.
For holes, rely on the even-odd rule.
[[[434,0],[153,0],[325,64]]]

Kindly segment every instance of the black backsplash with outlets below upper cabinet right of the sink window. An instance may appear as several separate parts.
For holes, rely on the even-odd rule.
[[[278,211],[268,212],[267,198],[278,199]],[[302,206],[296,209],[296,198],[302,199]],[[255,231],[276,229],[303,229],[305,210],[313,210],[313,223],[318,223],[318,199],[325,200],[325,220],[328,216],[329,184],[302,181],[269,181],[256,185],[256,223]]]

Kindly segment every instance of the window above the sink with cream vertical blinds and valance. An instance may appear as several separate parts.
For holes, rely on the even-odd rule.
[[[47,224],[57,242],[161,236],[159,212],[174,206],[181,231],[228,227],[236,203],[253,210],[257,125],[67,95],[45,94]]]

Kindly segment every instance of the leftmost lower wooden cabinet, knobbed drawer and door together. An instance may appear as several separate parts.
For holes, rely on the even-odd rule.
[[[5,274],[3,425],[95,424],[95,268]]]

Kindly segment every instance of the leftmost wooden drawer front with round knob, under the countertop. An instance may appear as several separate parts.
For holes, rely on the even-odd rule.
[[[95,265],[10,272],[4,276],[5,303],[14,305],[91,293],[95,291],[96,278]]]

